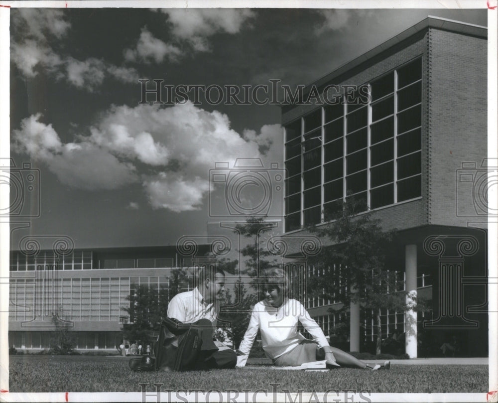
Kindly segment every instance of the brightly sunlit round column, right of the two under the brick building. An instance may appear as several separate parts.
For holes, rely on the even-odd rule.
[[[417,296],[417,246],[405,246],[405,287],[406,305],[413,307]],[[417,358],[417,312],[408,309],[405,312],[405,352],[410,358]]]

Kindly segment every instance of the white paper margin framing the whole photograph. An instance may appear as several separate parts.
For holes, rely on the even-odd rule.
[[[43,1],[4,1],[0,0],[0,158],[9,158],[10,154],[10,122],[9,122],[9,23],[10,9],[12,7],[36,8],[101,8],[101,7],[129,7],[129,8],[155,8],[155,7],[271,7],[271,8],[486,8],[488,7],[488,157],[498,157],[498,70],[497,70],[497,0],[43,0]],[[494,8],[493,8],[494,7]],[[495,159],[496,161],[496,159]],[[1,160],[0,160],[1,163]],[[4,164],[4,162],[3,162]],[[490,179],[497,178],[497,171],[489,173]],[[494,175],[494,176],[493,176]],[[489,205],[498,207],[498,186],[489,189]],[[9,204],[8,192],[5,186],[0,186],[0,205]],[[498,278],[498,223],[489,222],[489,277]],[[0,390],[8,390],[8,257],[9,257],[9,226],[2,220],[0,224]],[[2,281],[7,279],[7,281]],[[498,390],[498,284],[488,285],[489,290],[489,391]],[[6,291],[6,292],[5,292]],[[164,395],[164,400],[162,399]],[[285,398],[284,394],[277,394],[277,401]],[[296,397],[296,394],[291,394]],[[318,394],[317,396],[323,396]],[[306,397],[314,399],[313,395],[302,394],[302,402],[307,402]],[[190,396],[181,396],[182,400],[192,401]],[[199,401],[202,401],[202,396]],[[206,398],[206,396],[204,396]],[[209,397],[214,402],[215,396]],[[486,394],[372,394],[373,402],[487,402]],[[167,394],[161,394],[162,402],[167,399]],[[242,395],[235,402],[273,402],[273,396],[249,393]],[[497,395],[494,396],[496,401]],[[138,393],[7,393],[0,394],[0,402],[142,402],[142,394]],[[156,402],[157,399],[147,400]],[[358,396],[355,402],[358,400]],[[299,402],[299,399],[297,400]]]

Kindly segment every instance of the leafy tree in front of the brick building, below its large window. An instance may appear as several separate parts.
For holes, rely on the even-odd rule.
[[[376,352],[380,354],[382,332],[380,311],[384,309],[406,311],[408,309],[428,310],[428,304],[412,298],[407,306],[402,281],[386,263],[388,248],[396,231],[384,231],[380,220],[372,212],[358,215],[358,203],[349,200],[342,211],[327,226],[313,226],[309,229],[318,236],[328,238],[332,245],[311,258],[309,263],[322,275],[311,277],[308,288],[312,296],[341,301],[338,310],[348,312],[351,302],[375,312],[377,326]],[[361,211],[361,210],[360,210]],[[324,282],[324,278],[326,279]]]

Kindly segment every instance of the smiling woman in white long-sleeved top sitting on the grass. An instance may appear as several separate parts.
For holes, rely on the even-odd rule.
[[[341,366],[372,370],[389,369],[389,361],[382,366],[366,364],[338,348],[331,347],[322,329],[304,306],[296,299],[286,297],[290,283],[282,269],[267,269],[263,281],[265,299],[256,303],[252,309],[248,330],[237,351],[238,355],[244,356],[240,357],[238,366],[246,365],[259,329],[262,348],[278,367],[299,366],[307,362],[326,360],[326,366],[330,369]],[[305,339],[297,331],[298,322],[301,322],[313,337],[313,341]]]

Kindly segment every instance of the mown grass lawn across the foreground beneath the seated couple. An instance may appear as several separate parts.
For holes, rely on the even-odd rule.
[[[488,391],[486,365],[393,365],[390,371],[342,368],[328,372],[234,369],[176,373],[133,373],[124,357],[10,356],[9,392],[141,392],[161,390],[265,389],[372,393],[478,393]]]

